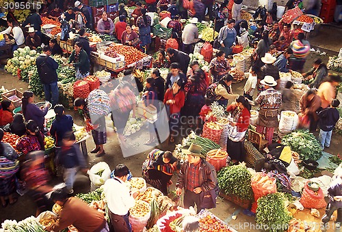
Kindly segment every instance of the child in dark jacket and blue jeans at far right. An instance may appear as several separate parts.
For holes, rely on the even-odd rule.
[[[334,126],[339,121],[339,111],[337,107],[340,102],[337,99],[332,100],[330,107],[324,108],[321,112],[318,113],[319,117],[319,143],[321,143],[321,148],[324,149],[324,145],[326,147],[330,146],[331,134]]]

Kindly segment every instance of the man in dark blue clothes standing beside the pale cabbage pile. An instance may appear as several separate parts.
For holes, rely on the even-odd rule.
[[[45,100],[51,102],[54,107],[58,103],[58,98],[60,96],[57,86],[58,78],[56,72],[58,63],[50,56],[50,47],[48,45],[44,46],[43,53],[36,59],[36,66],[40,81],[44,88]]]

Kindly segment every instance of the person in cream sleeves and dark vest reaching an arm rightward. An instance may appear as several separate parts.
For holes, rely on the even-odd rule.
[[[232,91],[233,76],[231,74],[227,74],[222,77],[218,82],[217,87],[215,88],[215,96],[218,96],[219,99],[215,100],[221,106],[226,107],[228,104],[228,100],[234,100],[239,95],[234,94]]]

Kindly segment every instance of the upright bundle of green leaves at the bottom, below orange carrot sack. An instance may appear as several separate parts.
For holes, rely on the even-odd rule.
[[[258,199],[256,222],[265,231],[286,231],[291,216],[285,205],[286,197],[277,192]]]

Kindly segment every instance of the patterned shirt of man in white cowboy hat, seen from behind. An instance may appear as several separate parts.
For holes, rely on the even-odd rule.
[[[277,110],[281,105],[281,93],[273,88],[262,91],[255,100],[264,110]]]

